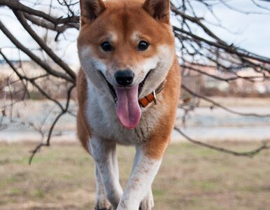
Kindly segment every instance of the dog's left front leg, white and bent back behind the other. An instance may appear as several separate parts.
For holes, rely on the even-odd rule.
[[[90,149],[104,183],[106,197],[113,209],[116,209],[122,196],[122,188],[119,183],[115,143],[92,138]]]

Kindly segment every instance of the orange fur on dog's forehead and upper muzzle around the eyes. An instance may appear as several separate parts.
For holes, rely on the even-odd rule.
[[[82,22],[78,45],[91,45],[94,55],[99,57],[108,68],[123,69],[126,66],[139,64],[155,55],[157,46],[162,44],[171,45],[171,50],[174,50],[171,27],[151,18],[150,14],[143,10],[141,1],[105,1],[104,3],[106,13],[101,13],[94,22]],[[113,32],[117,39],[114,40],[104,31]],[[137,41],[130,40],[134,31],[145,34],[138,38],[151,43],[150,50],[141,53],[134,50],[138,44]],[[102,52],[100,43],[111,39],[113,39],[113,47],[117,50],[110,54]]]

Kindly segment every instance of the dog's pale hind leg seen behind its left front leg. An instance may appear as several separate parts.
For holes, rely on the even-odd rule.
[[[111,210],[111,204],[108,202],[106,197],[106,192],[104,188],[104,183],[101,179],[101,174],[97,164],[95,165],[95,176],[96,176],[96,204],[95,210]]]

